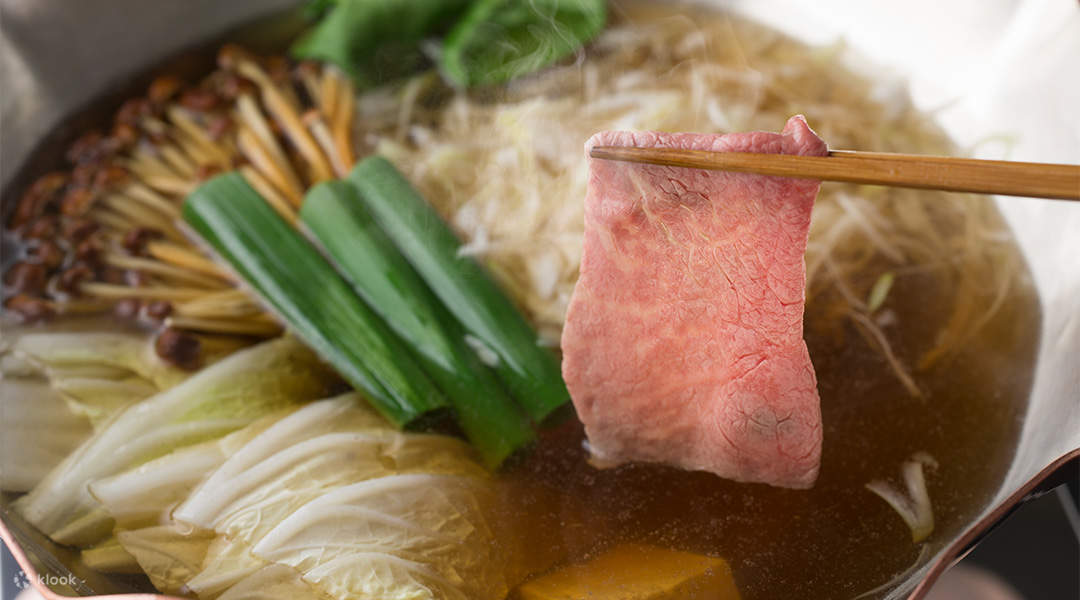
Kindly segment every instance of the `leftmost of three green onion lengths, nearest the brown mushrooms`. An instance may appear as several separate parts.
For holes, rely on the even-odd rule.
[[[445,407],[394,333],[243,177],[200,186],[184,219],[392,423],[416,424]]]

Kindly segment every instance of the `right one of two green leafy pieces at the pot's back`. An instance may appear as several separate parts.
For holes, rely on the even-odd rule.
[[[605,0],[477,0],[446,37],[443,72],[462,87],[510,81],[575,52],[606,17]]]

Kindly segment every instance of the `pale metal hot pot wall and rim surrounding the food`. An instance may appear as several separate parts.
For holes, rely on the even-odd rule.
[[[1023,137],[1010,159],[1080,162],[1076,128],[1080,80],[1070,71],[1075,69],[1070,59],[1080,55],[1080,10],[1075,3],[963,0],[943,6],[915,0],[881,6],[823,0],[812,8],[794,0],[713,3],[811,42],[843,36],[855,51],[910,81],[917,104],[934,107],[951,101],[939,118],[961,144],[1013,129]],[[295,0],[104,4],[0,0],[4,125],[0,178],[5,205],[35,175],[57,166],[63,148],[78,133],[106,122],[120,99],[145,88],[148,76],[133,73],[224,32],[256,49],[273,47],[295,35],[299,23],[295,11],[282,14]],[[967,16],[976,12],[982,15],[977,22]],[[235,29],[238,24],[247,25]],[[903,40],[905,51],[896,52]],[[918,40],[917,47],[913,40]],[[1038,69],[1029,69],[1028,59],[1036,52]],[[956,74],[981,56],[991,57],[983,71]],[[170,63],[170,69],[194,74],[208,69],[211,60],[211,53],[195,51]],[[980,153],[986,152],[976,148],[975,154]],[[999,201],[999,206],[1031,268],[1043,311],[1023,433],[1008,474],[982,514],[889,598],[921,598],[945,569],[1018,504],[1080,468],[1080,205],[1008,200]],[[75,586],[79,594],[124,590],[117,582],[79,570],[72,553],[50,544],[2,504],[0,515],[0,537],[31,581],[40,571],[77,575],[82,585]],[[46,598],[57,597],[43,586],[40,590]]]

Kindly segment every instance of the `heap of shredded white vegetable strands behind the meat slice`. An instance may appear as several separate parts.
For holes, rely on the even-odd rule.
[[[720,13],[673,16],[652,3],[618,13],[622,23],[582,59],[499,91],[455,93],[428,73],[359,100],[367,150],[393,161],[448,217],[463,251],[488,265],[549,344],[557,345],[578,276],[583,145],[595,132],[775,131],[802,113],[834,148],[956,153],[901,84],[875,85],[839,66],[841,44],[807,49]],[[877,275],[894,272],[894,292],[905,277],[935,276],[943,297],[957,298],[941,313],[941,335],[905,355],[870,343],[917,395],[913,369],[969,342],[994,304],[986,299],[1010,289],[1017,261],[1001,231],[976,196],[825,185],[807,249],[808,301],[886,340],[874,321],[850,321],[873,312],[864,299]]]

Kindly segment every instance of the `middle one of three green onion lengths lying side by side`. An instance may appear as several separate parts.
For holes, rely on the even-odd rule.
[[[312,188],[300,219],[353,290],[420,359],[488,466],[532,439],[528,421],[470,350],[461,325],[375,224],[352,186],[327,181]]]

